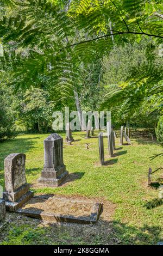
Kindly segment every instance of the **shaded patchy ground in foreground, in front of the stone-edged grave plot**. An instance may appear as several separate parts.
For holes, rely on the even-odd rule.
[[[159,225],[137,227],[102,217],[95,225],[47,223],[40,226],[41,220],[28,217],[26,224],[24,220],[24,217],[18,221],[12,218],[5,232],[0,233],[1,245],[156,245],[162,241]]]

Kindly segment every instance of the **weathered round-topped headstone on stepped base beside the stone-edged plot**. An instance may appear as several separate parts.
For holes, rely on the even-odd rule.
[[[8,211],[16,211],[30,198],[33,192],[29,190],[26,181],[26,155],[10,154],[4,160],[5,206]]]

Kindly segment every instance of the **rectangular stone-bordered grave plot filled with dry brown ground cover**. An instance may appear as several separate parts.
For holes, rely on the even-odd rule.
[[[54,195],[35,196],[16,212],[52,222],[96,223],[102,203]]]

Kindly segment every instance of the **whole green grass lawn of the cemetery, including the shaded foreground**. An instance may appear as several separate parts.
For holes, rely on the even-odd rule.
[[[155,245],[162,241],[163,205],[147,210],[145,203],[158,197],[158,191],[147,187],[148,168],[153,181],[162,176],[160,145],[150,139],[124,141],[112,159],[108,157],[104,138],[105,161],[99,165],[98,137],[84,139],[85,133],[74,132],[72,145],[64,142],[64,163],[70,176],[57,188],[35,187],[37,193],[55,193],[67,197],[97,198],[104,203],[101,217],[95,225],[47,223],[28,217],[7,214],[9,224],[0,234],[2,245]],[[27,182],[31,185],[41,175],[43,139],[48,135],[20,135],[0,144],[0,184],[4,186],[4,158],[11,153],[26,154]],[[65,133],[61,133],[65,139]],[[87,150],[85,144],[89,143]]]

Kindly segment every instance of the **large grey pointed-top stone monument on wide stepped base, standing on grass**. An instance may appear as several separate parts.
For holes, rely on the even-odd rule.
[[[43,141],[43,145],[44,166],[38,182],[41,186],[57,187],[68,175],[63,160],[63,139],[57,133],[52,133]]]

